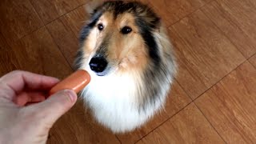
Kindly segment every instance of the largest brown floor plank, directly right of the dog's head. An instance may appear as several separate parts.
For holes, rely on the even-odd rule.
[[[171,26],[170,37],[178,56],[178,82],[193,99],[245,61],[201,10]]]

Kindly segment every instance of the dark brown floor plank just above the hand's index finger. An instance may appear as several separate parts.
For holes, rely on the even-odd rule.
[[[18,40],[12,46],[21,70],[65,78],[72,72],[46,28]]]

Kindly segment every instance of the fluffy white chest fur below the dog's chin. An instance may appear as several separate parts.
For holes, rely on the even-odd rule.
[[[82,96],[97,121],[113,132],[134,130],[153,114],[153,109],[138,110],[136,82],[128,75],[98,77],[91,73],[91,77]]]

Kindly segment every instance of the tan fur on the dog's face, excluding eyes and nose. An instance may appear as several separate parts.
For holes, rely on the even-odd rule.
[[[114,19],[114,14],[108,11],[102,15],[98,23],[103,23],[106,27],[104,32],[99,33],[94,28],[86,40],[83,50],[85,57],[89,54],[96,53],[98,46],[95,47],[99,39],[109,39],[109,48],[107,49],[107,60],[114,65],[118,65],[118,72],[125,73],[126,70],[140,71],[146,68],[148,54],[142,36],[138,34],[138,27],[134,23],[134,17],[131,14],[121,14]],[[97,25],[98,25],[97,23]],[[123,35],[120,30],[123,26],[130,26],[131,34]]]

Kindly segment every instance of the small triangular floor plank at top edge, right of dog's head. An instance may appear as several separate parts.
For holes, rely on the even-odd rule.
[[[206,4],[204,0],[158,0],[150,1],[167,26],[178,22],[187,14]]]

